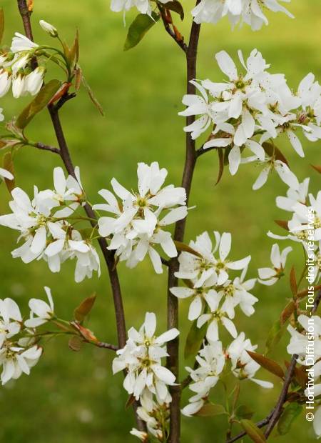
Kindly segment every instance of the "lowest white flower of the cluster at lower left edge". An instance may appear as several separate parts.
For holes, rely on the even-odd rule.
[[[18,379],[21,374],[29,375],[31,367],[37,364],[42,354],[38,346],[24,349],[21,347],[4,347],[0,349],[1,383],[6,384],[10,379]]]

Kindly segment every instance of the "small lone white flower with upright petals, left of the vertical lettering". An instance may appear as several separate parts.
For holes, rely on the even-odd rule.
[[[273,244],[270,256],[273,267],[258,269],[258,281],[266,286],[275,284],[282,277],[282,275],[284,275],[287,254],[289,254],[291,251],[292,247],[287,247],[280,252],[279,245],[277,243]]]

